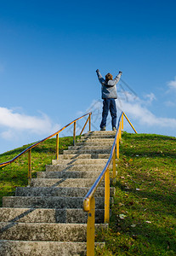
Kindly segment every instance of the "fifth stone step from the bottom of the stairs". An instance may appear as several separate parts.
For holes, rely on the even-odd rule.
[[[18,187],[15,191],[15,196],[70,196],[84,197],[87,195],[89,188],[49,188],[49,187]],[[116,189],[110,188],[110,196],[115,195]],[[104,197],[105,188],[98,187],[94,193],[94,197]],[[1,219],[1,218],[0,218]]]

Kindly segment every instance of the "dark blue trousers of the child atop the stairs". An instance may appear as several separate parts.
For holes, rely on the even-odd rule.
[[[112,128],[116,127],[116,101],[115,99],[104,99],[100,128],[103,128],[106,125],[106,119],[107,119],[109,110],[111,113]]]

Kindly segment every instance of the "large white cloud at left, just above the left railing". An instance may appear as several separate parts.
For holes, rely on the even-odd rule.
[[[28,134],[48,135],[60,129],[60,125],[53,125],[46,114],[40,117],[14,112],[13,109],[0,108],[1,137],[11,139],[20,136],[20,132]]]

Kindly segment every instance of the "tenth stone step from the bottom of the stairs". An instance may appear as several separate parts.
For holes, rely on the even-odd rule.
[[[60,154],[59,159],[109,159],[110,154]]]

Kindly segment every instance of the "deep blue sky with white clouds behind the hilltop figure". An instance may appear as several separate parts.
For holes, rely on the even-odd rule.
[[[176,137],[175,8],[170,0],[1,1],[0,153],[89,109],[99,129],[97,68],[122,70],[118,115],[138,132]]]

